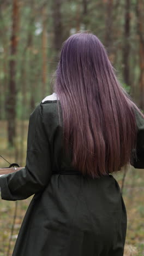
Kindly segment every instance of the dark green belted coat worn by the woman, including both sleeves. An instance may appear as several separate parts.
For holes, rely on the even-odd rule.
[[[136,119],[134,166],[144,168],[144,120]],[[122,256],[127,212],[116,179],[54,174],[73,171],[65,155],[57,100],[41,102],[29,119],[25,168],[0,178],[4,200],[35,194],[13,256]]]

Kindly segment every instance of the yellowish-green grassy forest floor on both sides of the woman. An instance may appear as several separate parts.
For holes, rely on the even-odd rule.
[[[16,149],[9,149],[7,145],[7,123],[5,121],[0,121],[0,154],[9,162],[16,161],[20,166],[25,166],[28,121],[17,121],[17,124]],[[22,127],[23,129],[21,129]],[[21,139],[22,132],[24,132],[23,142]],[[0,167],[6,166],[8,167],[9,164],[3,159],[0,159]],[[115,173],[113,176],[121,188],[123,172]],[[12,236],[11,227],[13,226],[16,202],[0,199],[0,256],[12,255],[17,234],[32,197],[33,196],[26,200],[17,201],[17,212]],[[125,207],[127,208],[128,217],[124,256],[144,255],[143,197],[144,170],[130,167],[125,177],[123,189],[123,199]]]

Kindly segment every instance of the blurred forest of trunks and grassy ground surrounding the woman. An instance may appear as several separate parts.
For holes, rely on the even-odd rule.
[[[0,0],[0,154],[10,163],[25,166],[29,115],[53,92],[62,43],[83,30],[105,45],[118,79],[144,110],[144,0]],[[125,176],[124,255],[142,256],[144,170],[114,175],[120,187]],[[0,256],[12,254],[31,199],[0,201]]]

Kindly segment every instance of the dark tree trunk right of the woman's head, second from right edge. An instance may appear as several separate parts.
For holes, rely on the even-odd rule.
[[[129,53],[130,53],[130,0],[125,1],[124,46],[123,46],[123,78],[124,83],[130,85]]]

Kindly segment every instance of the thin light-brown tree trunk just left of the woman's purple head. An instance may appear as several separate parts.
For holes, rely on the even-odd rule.
[[[47,30],[46,30],[46,4],[42,9],[43,14],[43,33],[42,33],[42,55],[43,55],[43,71],[42,71],[42,97],[45,97],[46,92],[46,77],[47,77]]]

